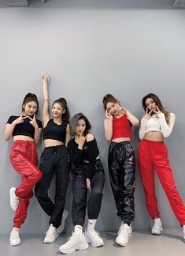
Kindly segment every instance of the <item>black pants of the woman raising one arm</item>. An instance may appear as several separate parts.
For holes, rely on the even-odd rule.
[[[50,224],[58,228],[65,207],[68,187],[68,149],[65,145],[46,147],[41,155],[40,170],[43,178],[35,186],[35,196],[44,212],[50,216]],[[56,175],[54,202],[48,196],[51,179]]]

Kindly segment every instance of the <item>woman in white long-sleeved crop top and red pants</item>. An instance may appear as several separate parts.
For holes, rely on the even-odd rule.
[[[142,99],[142,107],[146,114],[142,117],[139,129],[139,171],[146,197],[146,208],[154,220],[151,230],[153,235],[161,235],[162,223],[155,195],[154,168],[168,201],[176,215],[179,224],[183,226],[185,239],[185,206],[176,190],[172,169],[168,160],[168,149],[164,137],[168,137],[174,126],[175,115],[165,111],[161,100],[154,93],[149,93]]]

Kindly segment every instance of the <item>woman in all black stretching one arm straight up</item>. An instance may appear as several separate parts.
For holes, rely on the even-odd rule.
[[[45,149],[40,158],[39,168],[43,178],[35,186],[35,197],[44,212],[50,216],[49,229],[44,243],[53,243],[65,227],[68,211],[64,209],[68,187],[68,149],[66,145],[69,135],[69,111],[65,98],[60,98],[52,104],[53,119],[49,114],[49,74],[43,75],[43,140]],[[48,196],[50,183],[55,174],[54,202]],[[62,221],[61,221],[62,220]]]

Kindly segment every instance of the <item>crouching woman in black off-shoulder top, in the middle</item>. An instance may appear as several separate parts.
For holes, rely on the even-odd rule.
[[[94,227],[102,204],[102,192],[105,181],[104,169],[99,158],[96,139],[90,133],[91,124],[87,117],[78,113],[70,120],[72,140],[68,142],[68,152],[72,162],[72,224],[74,232],[68,241],[61,245],[63,254],[70,254],[75,250],[101,247],[104,242]],[[87,201],[87,190],[89,198]],[[88,215],[88,225],[83,235],[83,224]]]

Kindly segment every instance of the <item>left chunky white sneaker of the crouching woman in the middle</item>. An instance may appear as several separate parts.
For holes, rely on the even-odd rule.
[[[61,245],[59,250],[62,254],[71,254],[75,250],[85,250],[88,247],[83,234],[72,233],[72,236],[65,244]]]

